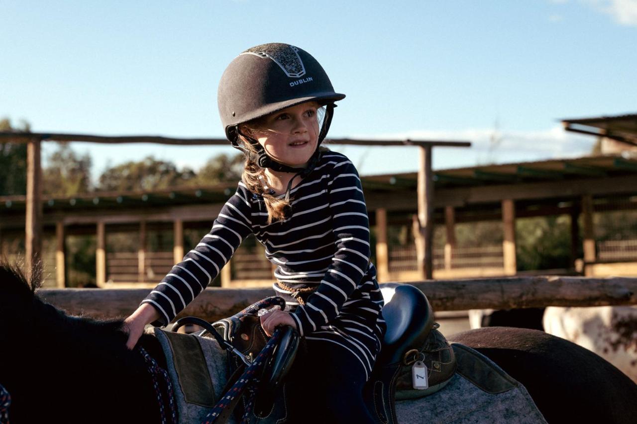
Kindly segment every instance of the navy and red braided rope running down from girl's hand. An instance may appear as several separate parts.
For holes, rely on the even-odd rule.
[[[259,355],[252,361],[252,364],[241,374],[240,378],[234,383],[230,390],[225,393],[217,405],[212,409],[202,424],[213,424],[217,420],[218,416],[228,407],[232,401],[243,393],[244,390],[248,390],[248,399],[246,402],[243,418],[241,418],[241,424],[247,424],[250,421],[250,413],[254,407],[254,398],[256,395],[255,387],[259,384],[259,375],[262,368],[266,364],[266,359],[269,357],[271,351],[274,350],[281,338],[282,332],[280,329],[275,330],[275,333],[270,337],[266,346],[259,352]]]

